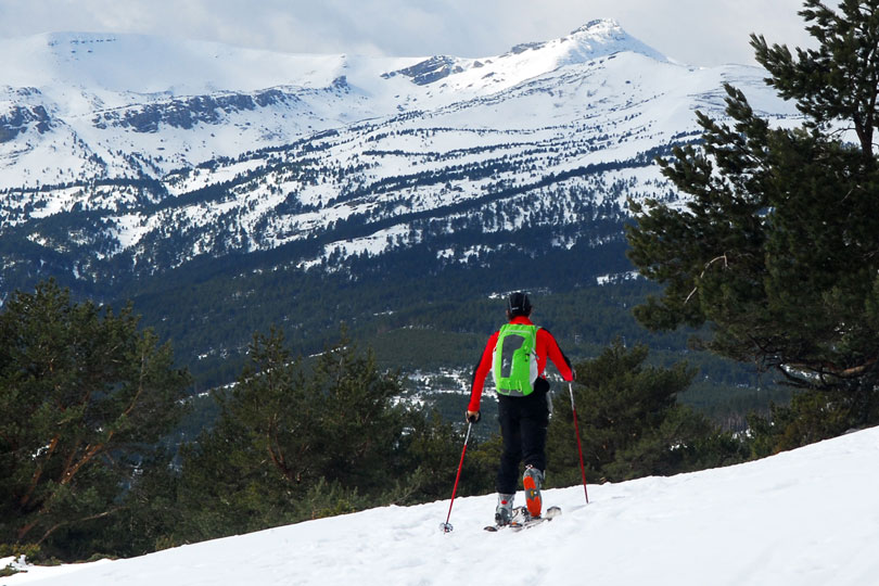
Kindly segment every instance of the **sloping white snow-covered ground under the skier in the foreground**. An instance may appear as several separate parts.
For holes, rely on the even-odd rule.
[[[590,486],[589,498],[582,486],[547,491],[564,514],[520,533],[482,531],[489,495],[456,499],[448,534],[446,500],[29,568],[0,585],[879,584],[879,428],[741,466]]]

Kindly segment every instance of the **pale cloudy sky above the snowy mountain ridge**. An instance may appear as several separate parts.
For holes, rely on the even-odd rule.
[[[137,33],[292,53],[492,56],[596,18],[679,62],[755,64],[751,33],[807,46],[802,0],[0,0],[0,38]]]

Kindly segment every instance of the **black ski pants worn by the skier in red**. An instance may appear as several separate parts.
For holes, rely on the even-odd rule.
[[[546,471],[548,390],[543,385],[535,386],[539,388],[524,397],[498,395],[498,421],[504,453],[500,455],[496,488],[502,495],[517,492],[521,473],[519,464],[522,460],[525,466],[533,466],[540,472]]]

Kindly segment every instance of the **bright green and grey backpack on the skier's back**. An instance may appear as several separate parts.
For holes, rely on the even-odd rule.
[[[537,326],[507,323],[500,328],[492,369],[501,395],[524,397],[537,380]]]

